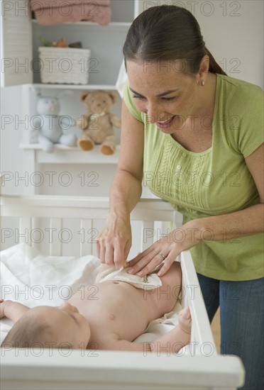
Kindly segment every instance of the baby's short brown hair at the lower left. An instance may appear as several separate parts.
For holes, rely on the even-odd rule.
[[[52,331],[47,323],[32,321],[28,316],[21,317],[9,330],[1,343],[2,348],[13,347],[48,347],[52,340]]]

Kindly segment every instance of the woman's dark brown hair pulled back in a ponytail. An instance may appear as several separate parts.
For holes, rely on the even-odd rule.
[[[206,48],[199,23],[178,6],[153,6],[133,21],[123,45],[126,60],[178,61],[182,72],[197,74],[204,55],[209,72],[226,74]]]

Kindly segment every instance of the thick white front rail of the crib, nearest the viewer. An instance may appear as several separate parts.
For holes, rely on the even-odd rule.
[[[243,384],[237,357],[146,358],[141,352],[89,350],[83,355],[73,350],[65,357],[57,351],[34,352],[3,352],[1,389],[235,390]]]

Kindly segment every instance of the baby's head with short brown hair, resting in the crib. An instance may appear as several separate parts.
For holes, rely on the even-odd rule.
[[[29,309],[9,331],[1,347],[85,349],[90,338],[87,320],[75,306],[37,306]]]

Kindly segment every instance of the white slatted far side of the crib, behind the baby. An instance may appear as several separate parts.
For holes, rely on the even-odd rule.
[[[79,220],[79,231],[95,232],[94,220],[105,220],[109,209],[109,199],[105,197],[93,198],[85,196],[2,196],[1,216],[19,217],[18,243],[26,242],[33,244],[34,218],[49,218],[49,230],[60,232],[62,221],[65,218],[77,218]],[[131,213],[131,221],[141,221],[141,243],[138,250],[145,250],[155,240],[145,239],[146,233],[162,229],[163,223],[180,225],[182,215],[173,210],[171,206],[160,199],[141,199]],[[159,225],[158,225],[159,224]],[[172,226],[171,225],[171,226]],[[145,232],[145,234],[144,234]],[[3,233],[3,232],[2,232]],[[7,232],[8,233],[8,232]],[[3,240],[1,240],[3,243]],[[94,240],[79,240],[78,255],[92,254],[94,251]],[[62,255],[62,240],[49,240],[49,255]]]

